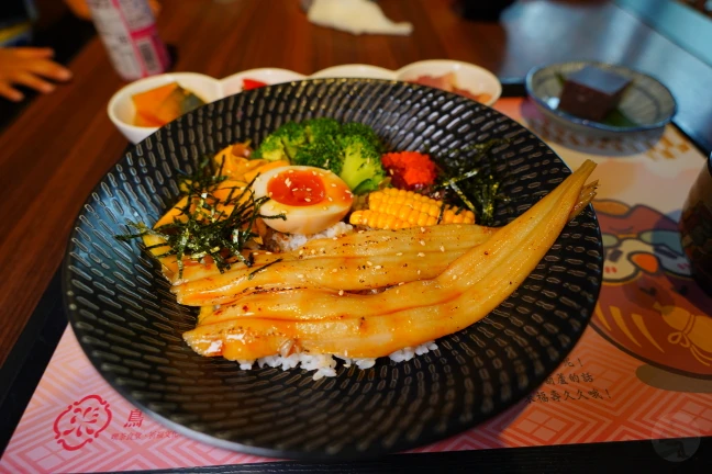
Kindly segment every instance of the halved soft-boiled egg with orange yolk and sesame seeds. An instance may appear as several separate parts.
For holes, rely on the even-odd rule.
[[[320,233],[351,210],[354,194],[348,185],[332,171],[313,167],[286,166],[270,169],[253,183],[255,198],[268,196],[259,207],[268,218],[265,224],[287,234]]]

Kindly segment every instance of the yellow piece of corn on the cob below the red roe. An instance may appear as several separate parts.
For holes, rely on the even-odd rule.
[[[413,191],[389,188],[368,194],[368,208],[352,213],[349,223],[400,229],[436,224],[474,224],[475,214]]]

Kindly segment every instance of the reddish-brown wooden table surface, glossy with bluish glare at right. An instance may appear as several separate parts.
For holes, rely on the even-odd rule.
[[[218,78],[256,67],[311,74],[346,63],[397,69],[453,58],[521,80],[545,63],[622,63],[666,82],[679,101],[678,125],[712,147],[712,67],[615,4],[524,1],[500,24],[460,20],[446,0],[380,4],[391,19],[412,22],[414,34],[355,37],[316,27],[298,0],[166,3],[158,24],[177,47],[175,70]],[[86,196],[126,146],[105,114],[123,83],[101,43],[90,42],[70,68],[71,84],[37,99],[0,135],[0,364],[59,266]]]

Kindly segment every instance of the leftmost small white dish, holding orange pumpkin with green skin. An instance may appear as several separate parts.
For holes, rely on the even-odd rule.
[[[158,127],[144,127],[133,124],[136,110],[131,97],[170,82],[178,82],[205,102],[213,102],[223,97],[222,86],[219,80],[196,72],[165,74],[131,82],[114,93],[107,106],[109,119],[130,142],[136,144],[158,129]]]

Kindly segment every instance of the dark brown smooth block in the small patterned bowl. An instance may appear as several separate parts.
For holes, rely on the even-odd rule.
[[[618,106],[630,82],[615,72],[586,66],[564,82],[559,109],[581,119],[600,122]]]

